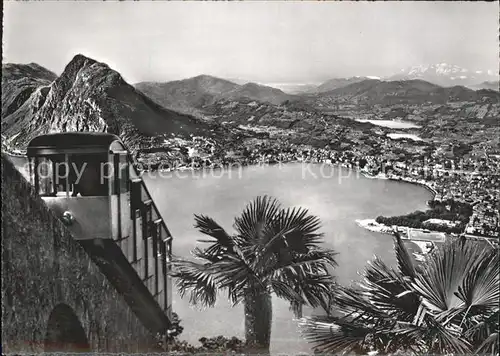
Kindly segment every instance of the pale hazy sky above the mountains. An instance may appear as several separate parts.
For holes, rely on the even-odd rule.
[[[6,1],[3,16],[3,63],[60,74],[81,53],[129,83],[316,83],[442,62],[498,72],[496,2]]]

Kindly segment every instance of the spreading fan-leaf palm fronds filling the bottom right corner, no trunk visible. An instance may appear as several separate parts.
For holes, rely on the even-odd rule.
[[[376,258],[358,287],[331,294],[326,316],[301,320],[315,349],[498,354],[497,249],[460,238],[416,265],[396,235],[395,251],[397,269]]]

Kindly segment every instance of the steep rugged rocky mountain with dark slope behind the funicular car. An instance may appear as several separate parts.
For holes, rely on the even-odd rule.
[[[98,131],[131,148],[156,135],[210,134],[207,123],[168,110],[106,64],[75,56],[57,77],[36,64],[2,65],[2,135],[24,148],[39,134]]]

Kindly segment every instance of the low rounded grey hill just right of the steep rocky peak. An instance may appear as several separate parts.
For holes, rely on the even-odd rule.
[[[164,107],[190,113],[221,99],[245,98],[277,105],[293,98],[280,89],[256,83],[236,84],[209,75],[163,83],[141,82],[135,87]]]

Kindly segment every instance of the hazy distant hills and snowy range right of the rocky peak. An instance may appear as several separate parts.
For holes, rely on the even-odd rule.
[[[255,83],[237,84],[207,75],[166,83],[138,83],[136,88],[160,105],[189,113],[203,113],[205,107],[223,99],[251,99],[275,105],[285,101],[303,100],[314,103],[316,99],[311,100],[311,97],[318,96],[330,97],[336,101],[372,104],[403,103],[405,100],[411,103],[444,103],[449,100],[479,100],[478,98],[485,94],[478,95],[475,93],[477,90],[498,91],[498,85],[492,81],[466,86],[464,73],[468,71],[458,66],[438,64],[412,67],[389,78],[373,76],[334,78],[315,86],[273,84],[285,89],[287,93],[271,86]],[[491,73],[483,74],[469,73],[468,83],[484,78],[495,78]],[[241,80],[238,82],[244,83]],[[445,85],[446,83],[449,85]]]

